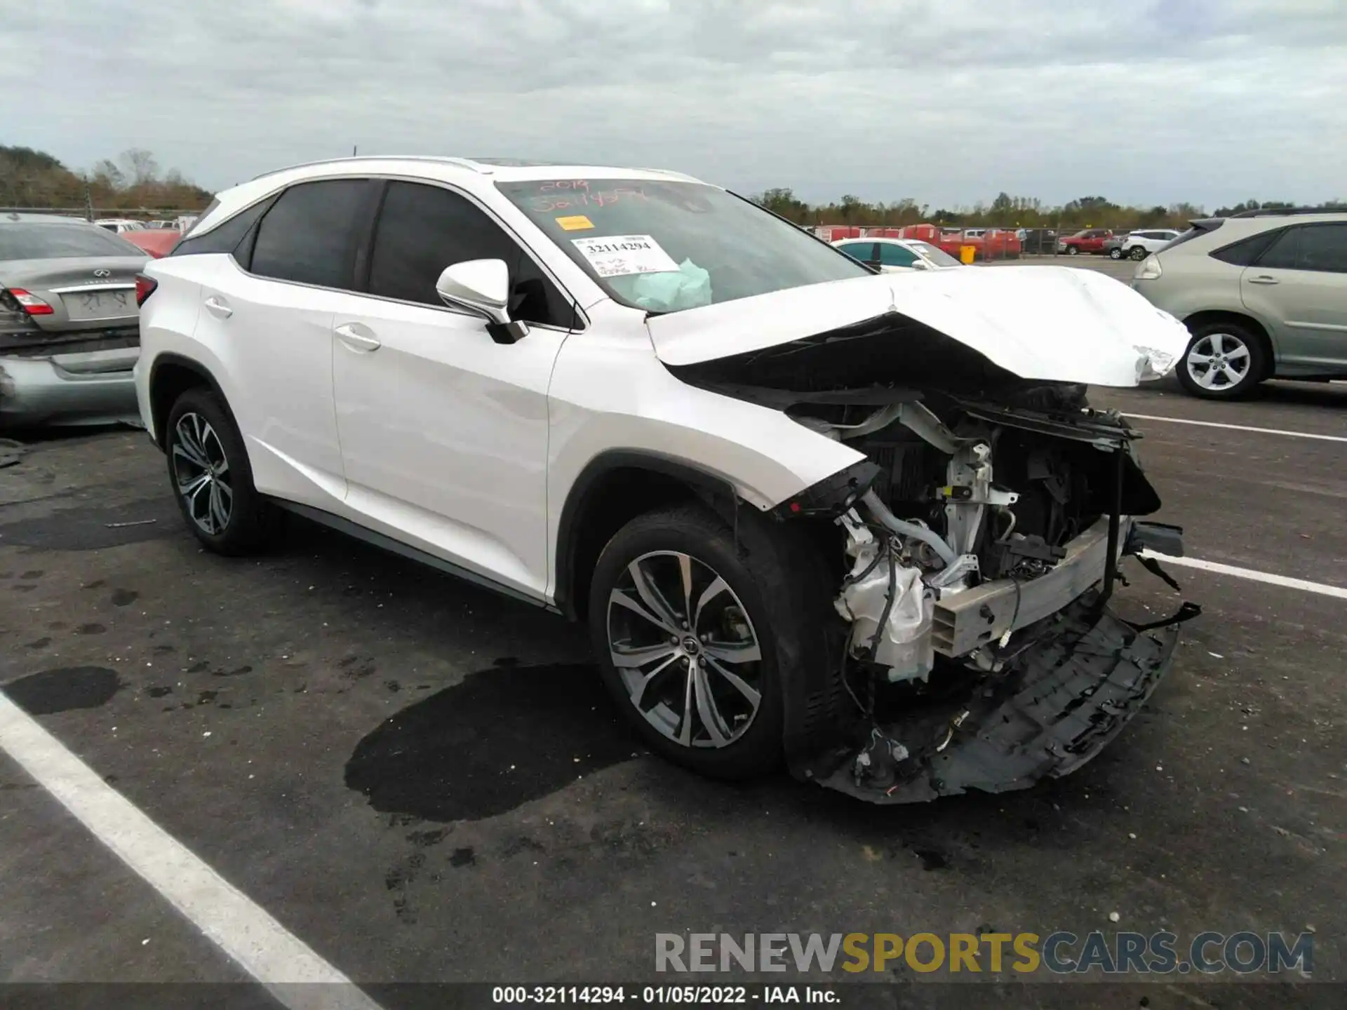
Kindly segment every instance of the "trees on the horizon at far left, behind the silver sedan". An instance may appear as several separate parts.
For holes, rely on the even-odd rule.
[[[0,144],[0,206],[78,211],[120,210],[154,214],[159,210],[205,207],[211,193],[189,182],[176,168],[162,171],[155,156],[129,148],[90,168],[74,171],[44,151]]]

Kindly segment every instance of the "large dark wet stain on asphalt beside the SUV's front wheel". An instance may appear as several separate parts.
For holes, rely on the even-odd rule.
[[[346,785],[380,813],[480,820],[634,750],[594,667],[493,668],[376,727],[346,762]]]

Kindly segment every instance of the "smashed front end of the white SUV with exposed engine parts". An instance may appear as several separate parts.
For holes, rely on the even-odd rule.
[[[1133,385],[1173,357],[1158,322],[1164,347],[1123,356]],[[1064,776],[1140,711],[1199,613],[1136,625],[1109,607],[1123,556],[1183,553],[1179,528],[1138,518],[1160,509],[1140,435],[1053,377],[1070,362],[1018,365],[1048,376],[1028,378],[997,358],[1018,365],[890,307],[669,365],[863,457],[773,509],[835,560],[842,718],[791,749],[800,778],[913,803]]]

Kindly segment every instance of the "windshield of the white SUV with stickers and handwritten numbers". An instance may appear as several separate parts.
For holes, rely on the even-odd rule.
[[[616,300],[652,312],[873,271],[745,199],[691,182],[498,182]]]

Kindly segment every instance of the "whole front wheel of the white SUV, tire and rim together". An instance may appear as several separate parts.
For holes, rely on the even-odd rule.
[[[742,532],[742,531],[741,531]],[[589,624],[609,691],[648,746],[703,774],[781,760],[783,664],[819,654],[801,572],[770,537],[749,551],[700,505],[640,516],[603,548]]]

